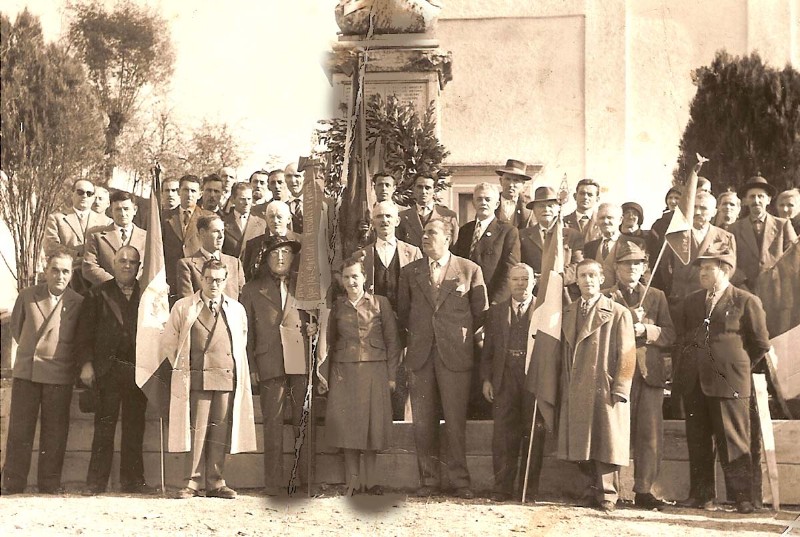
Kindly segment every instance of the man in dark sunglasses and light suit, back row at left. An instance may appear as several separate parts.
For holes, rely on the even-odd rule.
[[[105,214],[92,211],[95,187],[91,181],[79,179],[72,185],[72,207],[47,218],[44,231],[44,254],[48,256],[57,245],[65,246],[74,256],[70,287],[79,293],[89,289],[89,283],[81,275],[83,252],[89,234],[96,228],[112,223]]]

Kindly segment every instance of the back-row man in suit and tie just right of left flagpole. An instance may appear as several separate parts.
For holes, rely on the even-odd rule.
[[[184,175],[181,177],[180,185],[178,195],[181,203],[176,209],[164,215],[162,223],[164,270],[167,275],[167,284],[169,284],[169,293],[173,300],[178,294],[178,261],[193,255],[201,246],[197,233],[197,221],[201,216],[214,214],[197,204],[197,200],[200,198],[200,179],[196,175]]]

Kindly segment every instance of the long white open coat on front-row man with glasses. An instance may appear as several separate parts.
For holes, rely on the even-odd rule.
[[[228,322],[236,364],[236,390],[233,397],[231,453],[256,450],[256,426],[253,414],[253,397],[250,390],[250,368],[247,364],[247,316],[244,307],[228,296],[223,296],[222,313]],[[200,292],[175,303],[167,321],[161,341],[162,353],[172,364],[172,381],[169,402],[169,438],[167,449],[171,452],[191,450],[189,420],[189,392],[191,374],[192,325],[203,309]]]

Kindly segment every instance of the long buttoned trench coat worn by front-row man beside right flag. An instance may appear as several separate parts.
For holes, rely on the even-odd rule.
[[[580,331],[580,300],[564,308],[558,457],[627,466],[630,460],[630,403],[636,368],[631,313],[601,296]]]

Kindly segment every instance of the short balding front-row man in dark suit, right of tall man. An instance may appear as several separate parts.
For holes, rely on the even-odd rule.
[[[491,499],[504,502],[516,495],[521,497],[525,463],[517,478],[517,458],[520,445],[523,461],[527,461],[535,396],[525,389],[525,358],[528,348],[530,316],[533,311],[533,269],[518,263],[509,272],[511,298],[489,308],[486,314],[486,340],[481,352],[483,396],[492,403],[494,431],[492,462],[494,489]],[[535,499],[544,459],[546,427],[540,412],[536,412],[533,433],[530,476],[528,483]]]

